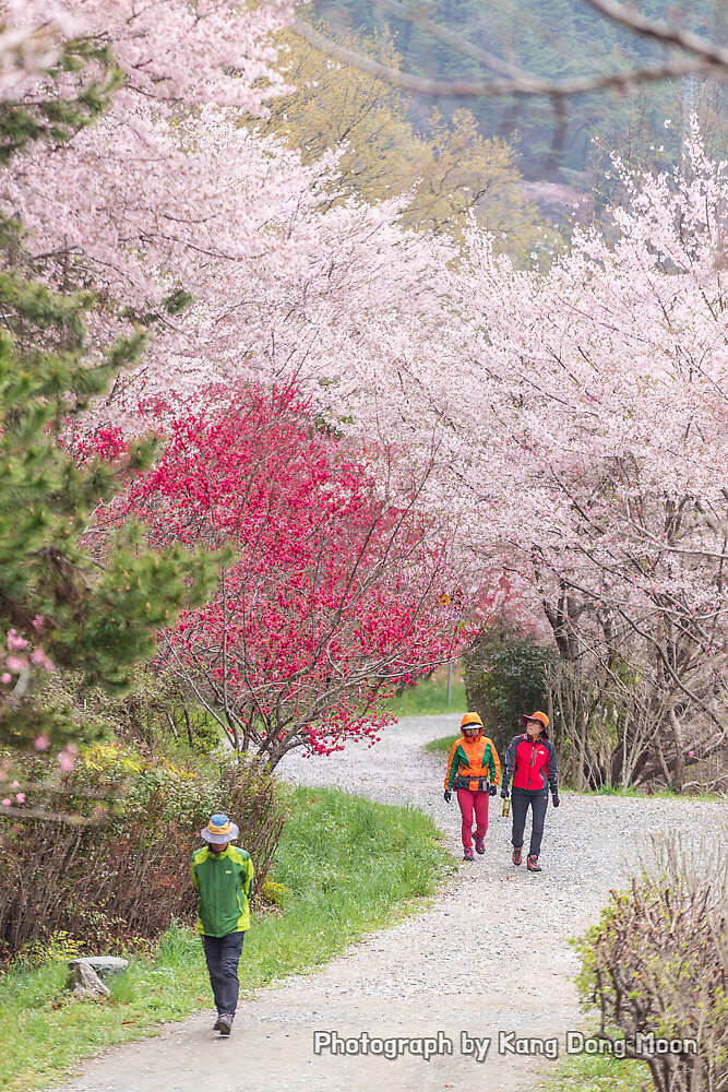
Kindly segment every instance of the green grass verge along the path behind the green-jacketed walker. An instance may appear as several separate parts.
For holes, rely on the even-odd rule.
[[[401,921],[453,867],[433,822],[414,808],[336,790],[291,791],[273,868],[288,894],[279,912],[253,917],[240,964],[243,995],[310,971],[368,931]],[[176,923],[153,958],[130,961],[108,1001],[72,998],[64,977],[59,962],[0,975],[3,1092],[45,1088],[83,1058],[212,1007],[200,940]]]

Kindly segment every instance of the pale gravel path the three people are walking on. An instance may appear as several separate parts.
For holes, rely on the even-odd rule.
[[[415,804],[461,856],[460,811],[442,798],[444,761],[421,750],[428,739],[454,737],[458,721],[456,714],[406,717],[373,748],[354,745],[329,759],[289,756],[279,772],[297,784]],[[394,781],[392,770],[401,771]],[[577,960],[568,938],[595,921],[648,831],[712,824],[725,804],[564,793],[561,808],[547,814],[544,871],[528,875],[511,864],[510,823],[500,817],[500,797],[491,803],[485,856],[461,864],[432,909],[353,945],[312,975],[285,978],[242,1000],[229,1041],[211,1033],[210,1013],[196,1016],[92,1061],[73,1092],[199,1092],[201,1085],[369,1092],[378,1084],[393,1092],[520,1092],[538,1085],[552,1063],[499,1054],[499,1031],[563,1041],[566,1029],[580,1026],[572,985]],[[244,981],[244,956],[241,970]],[[317,1030],[342,1038],[441,1032],[452,1055],[429,1061],[408,1052],[394,1060],[315,1056]],[[485,1060],[462,1053],[463,1031],[492,1037]]]

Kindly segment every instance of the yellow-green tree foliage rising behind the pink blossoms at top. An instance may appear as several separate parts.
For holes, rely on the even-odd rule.
[[[330,27],[325,31],[336,38]],[[420,135],[398,90],[330,60],[295,32],[284,32],[282,41],[283,74],[295,90],[271,103],[258,128],[301,149],[303,163],[336,152],[335,201],[356,194],[371,203],[405,193],[399,221],[408,227],[462,239],[467,213],[474,211],[510,253],[528,253],[541,241],[513,150],[503,140],[482,136],[468,110],[456,110],[447,122],[434,110],[427,135]],[[345,36],[342,44],[399,67],[390,40]]]

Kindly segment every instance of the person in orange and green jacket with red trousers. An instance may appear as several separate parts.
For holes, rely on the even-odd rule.
[[[501,762],[491,739],[484,735],[482,721],[477,713],[466,713],[461,722],[461,738],[450,749],[445,773],[445,800],[450,804],[452,790],[457,792],[457,803],[463,818],[463,859],[475,860],[473,853],[473,812],[475,811],[475,848],[486,852],[488,830],[488,797],[496,795],[501,775]]]

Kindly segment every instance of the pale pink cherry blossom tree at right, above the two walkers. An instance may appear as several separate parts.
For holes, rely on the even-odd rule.
[[[649,680],[640,776],[676,785],[725,745],[726,700],[728,174],[696,133],[687,154],[641,178],[616,163],[624,203],[546,275],[474,228],[440,367],[405,366],[397,407],[401,435],[437,428],[437,492],[564,662],[598,649]]]

